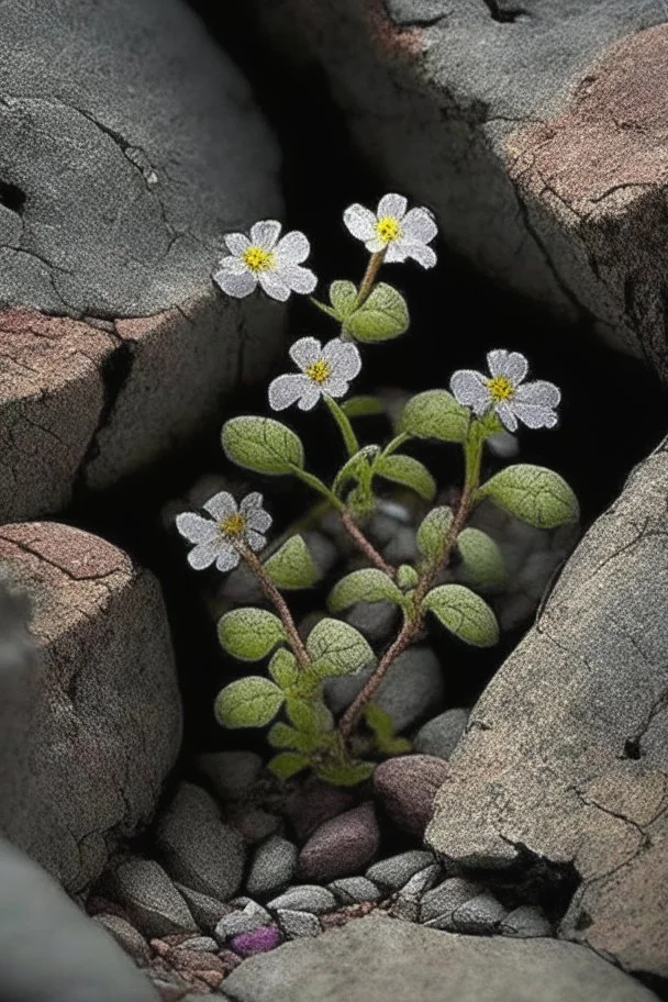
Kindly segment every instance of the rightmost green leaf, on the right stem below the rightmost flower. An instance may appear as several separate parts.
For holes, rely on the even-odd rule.
[[[556,528],[580,517],[578,499],[566,480],[542,466],[506,467],[482,485],[476,494],[481,498],[537,528]]]

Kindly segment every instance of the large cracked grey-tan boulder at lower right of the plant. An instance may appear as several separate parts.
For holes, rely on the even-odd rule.
[[[427,842],[579,886],[561,933],[668,977],[668,444],[589,531],[471,711]]]

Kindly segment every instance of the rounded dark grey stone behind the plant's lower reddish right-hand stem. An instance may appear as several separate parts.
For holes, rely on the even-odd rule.
[[[330,680],[326,700],[333,713],[341,713],[361,690],[371,670]],[[437,712],[445,699],[443,669],[428,647],[411,647],[390,666],[374,702],[390,716],[397,734]]]

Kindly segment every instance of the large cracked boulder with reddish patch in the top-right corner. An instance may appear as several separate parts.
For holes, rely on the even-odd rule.
[[[388,185],[477,268],[668,379],[665,5],[292,3]]]

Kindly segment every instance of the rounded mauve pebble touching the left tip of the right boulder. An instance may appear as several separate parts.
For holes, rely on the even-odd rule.
[[[403,832],[422,839],[432,820],[434,799],[449,767],[432,755],[401,755],[381,762],[374,773],[374,794]]]

